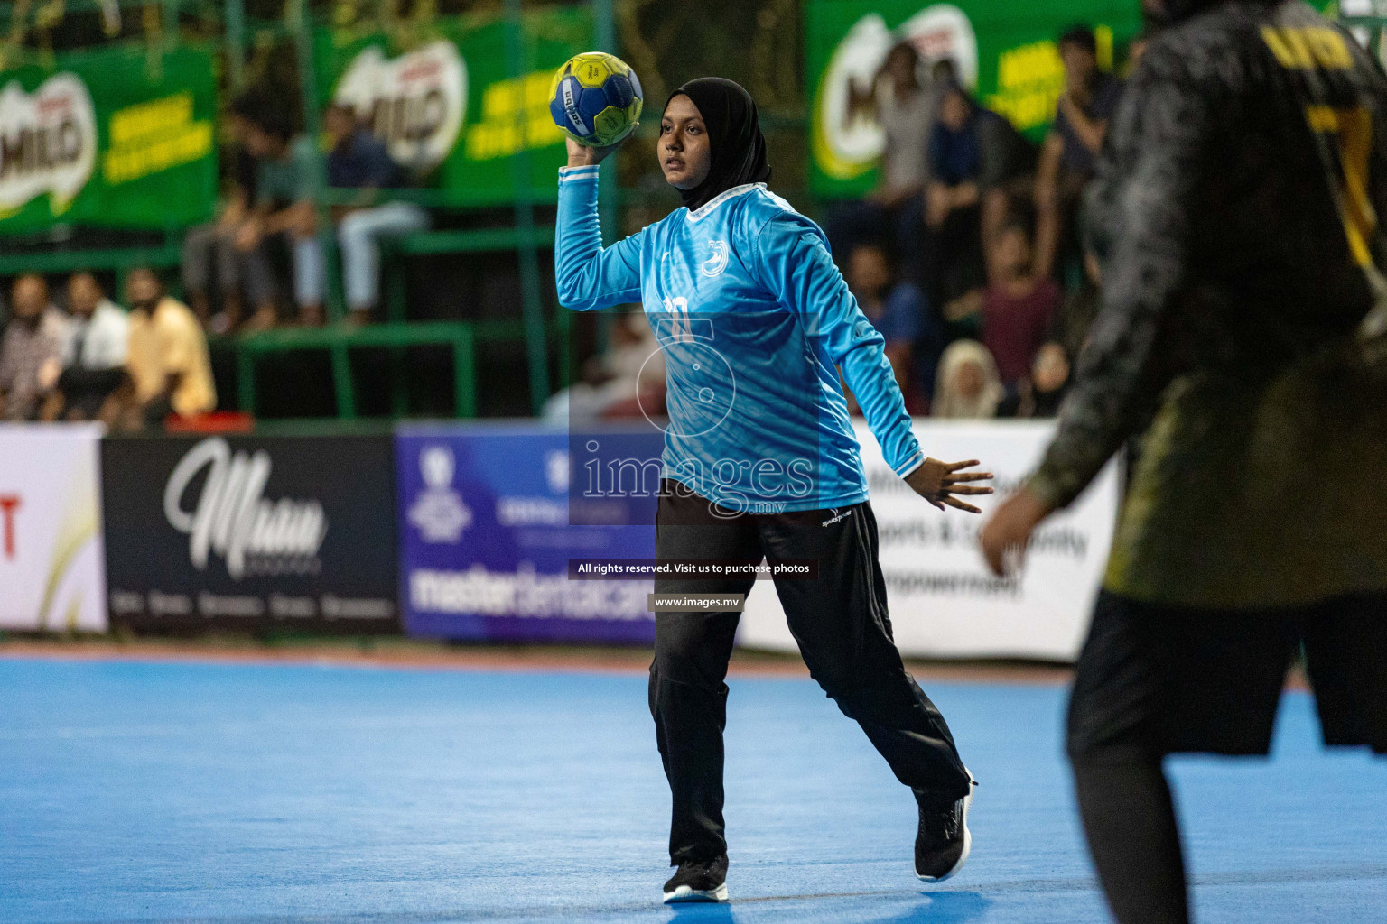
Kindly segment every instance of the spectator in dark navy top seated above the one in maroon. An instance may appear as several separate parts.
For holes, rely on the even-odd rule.
[[[945,87],[929,134],[925,223],[928,278],[947,301],[985,280],[983,254],[1035,169],[1035,150],[1003,116],[978,105],[957,83]]]

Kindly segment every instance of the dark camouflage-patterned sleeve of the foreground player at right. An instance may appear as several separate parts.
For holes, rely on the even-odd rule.
[[[1176,50],[1157,44],[1128,85],[1090,190],[1090,220],[1105,251],[1101,309],[1058,431],[1028,482],[1053,507],[1068,506],[1097,477],[1169,381],[1162,328],[1187,273],[1212,107]]]

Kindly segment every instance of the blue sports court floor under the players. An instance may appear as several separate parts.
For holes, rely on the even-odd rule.
[[[982,781],[968,867],[809,680],[734,679],[727,906],[657,905],[667,792],[634,675],[0,658],[0,921],[1104,921],[1064,695],[927,683]],[[1198,920],[1387,920],[1387,762],[1175,767]]]

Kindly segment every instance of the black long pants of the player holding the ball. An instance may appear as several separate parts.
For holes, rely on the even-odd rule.
[[[669,483],[667,483],[669,486]],[[675,493],[680,492],[680,493]],[[678,486],[663,492],[656,557],[811,558],[816,579],[777,579],[789,630],[809,672],[877,747],[896,779],[925,803],[971,791],[939,709],[906,672],[886,616],[877,519],[867,503],[836,510],[736,515]],[[656,580],[656,593],[749,593],[753,580]],[[723,729],[736,612],[655,616],[651,713],[673,795],[670,860],[727,852],[723,833]]]

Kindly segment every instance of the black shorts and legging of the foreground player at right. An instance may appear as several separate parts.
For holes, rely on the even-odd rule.
[[[1121,924],[1189,921],[1162,758],[1266,754],[1301,650],[1325,743],[1387,751],[1387,596],[1227,611],[1099,594],[1068,747],[1089,849]]]

